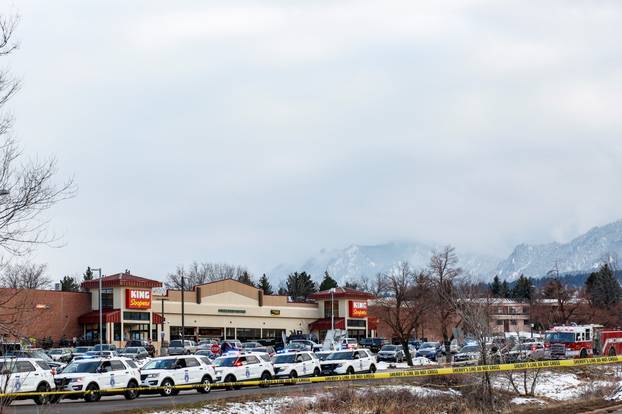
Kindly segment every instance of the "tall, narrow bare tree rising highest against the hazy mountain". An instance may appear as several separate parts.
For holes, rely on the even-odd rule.
[[[436,291],[435,313],[438,315],[445,351],[449,354],[449,324],[455,315],[454,303],[452,300],[454,291],[454,281],[462,272],[457,267],[458,256],[455,249],[445,246],[440,251],[432,254],[430,259],[429,271],[432,284]]]

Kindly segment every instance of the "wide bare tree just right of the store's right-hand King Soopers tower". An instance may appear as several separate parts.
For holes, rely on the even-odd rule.
[[[407,262],[401,262],[391,272],[383,275],[382,285],[386,295],[375,301],[378,317],[386,323],[404,348],[408,365],[412,366],[412,355],[408,341],[429,304],[425,298],[430,294],[429,279],[423,273],[415,274]]]

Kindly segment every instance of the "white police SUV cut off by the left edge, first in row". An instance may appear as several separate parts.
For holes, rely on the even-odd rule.
[[[54,388],[54,376],[50,366],[41,359],[35,358],[5,358],[0,359],[0,390],[7,394],[23,392],[48,392]],[[36,404],[45,404],[48,396],[35,395],[32,398]]]

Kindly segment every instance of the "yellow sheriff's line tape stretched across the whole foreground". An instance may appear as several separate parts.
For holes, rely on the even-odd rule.
[[[23,398],[23,397],[36,397],[46,395],[86,395],[86,394],[122,394],[126,391],[138,391],[138,392],[154,392],[162,391],[165,389],[174,390],[190,390],[201,388],[233,388],[242,386],[270,386],[270,385],[285,385],[285,384],[309,384],[319,382],[335,382],[335,381],[362,381],[371,379],[391,379],[391,378],[408,378],[408,377],[429,377],[429,376],[443,376],[443,375],[460,375],[460,374],[479,374],[484,372],[501,372],[501,371],[522,371],[530,369],[553,369],[553,368],[571,368],[581,367],[586,365],[605,365],[615,364],[622,362],[622,356],[612,357],[596,357],[596,358],[584,358],[584,359],[563,359],[552,361],[533,361],[522,362],[515,364],[492,364],[492,365],[476,365],[467,367],[444,367],[444,368],[422,368],[422,369],[407,369],[403,371],[392,372],[380,372],[373,374],[355,374],[355,375],[333,375],[325,377],[302,377],[302,378],[289,378],[289,379],[274,379],[274,380],[250,380],[250,381],[238,381],[238,382],[219,382],[212,383],[209,386],[203,384],[192,385],[173,385],[170,387],[135,387],[135,388],[109,388],[102,390],[88,390],[88,391],[47,391],[47,392],[19,392],[19,393],[5,393],[0,394],[0,398]]]

